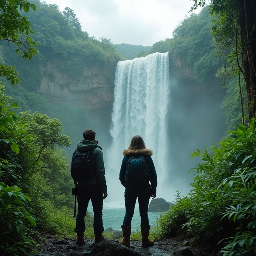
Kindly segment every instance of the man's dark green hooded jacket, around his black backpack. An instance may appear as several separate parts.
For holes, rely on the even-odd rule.
[[[77,144],[77,150],[80,152],[85,152],[90,149],[92,150],[92,161],[95,169],[95,174],[91,179],[86,181],[80,181],[80,185],[97,185],[99,184],[102,192],[107,192],[106,178],[105,178],[105,166],[103,159],[102,148],[98,146],[95,142],[90,140],[82,140]]]

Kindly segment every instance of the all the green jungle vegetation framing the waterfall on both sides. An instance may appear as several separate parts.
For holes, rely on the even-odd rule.
[[[194,2],[194,8],[204,4]],[[185,231],[192,242],[203,240],[225,256],[255,255],[256,247],[256,130],[250,95],[255,83],[246,77],[255,70],[254,42],[248,38],[255,35],[255,12],[243,30],[246,26],[240,18],[248,8],[245,4],[246,11],[241,12],[240,3],[244,1],[230,6],[231,0],[212,0],[210,8],[184,19],[173,38],[155,43],[147,53],[182,55],[193,66],[198,84],[216,75],[226,87],[222,103],[226,137],[204,152],[195,148],[192,157],[202,162],[190,170],[192,190],[185,196],[177,191],[176,203],[151,232],[153,238],[163,238]],[[73,123],[86,112],[77,113],[72,106],[55,109],[37,93],[42,75],[32,66],[56,55],[70,75],[80,75],[84,60],[103,66],[118,61],[120,55],[110,40],[96,40],[83,32],[69,8],[60,13],[56,5],[38,0],[2,0],[0,8],[0,22],[11,17],[11,22],[0,23],[0,250],[4,256],[27,255],[40,240],[40,232],[74,235],[73,181],[63,150],[71,139],[62,124],[67,117],[61,121],[59,117],[63,110],[69,111],[72,119],[66,122]],[[250,8],[255,10],[255,5]],[[17,83],[18,90],[11,85]],[[85,118],[93,123],[89,115]],[[86,235],[93,236],[92,218],[89,214],[87,218]]]

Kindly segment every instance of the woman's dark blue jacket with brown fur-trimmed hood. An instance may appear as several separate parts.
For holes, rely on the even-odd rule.
[[[123,155],[124,155],[124,158],[122,160],[122,165],[121,165],[121,170],[120,170],[120,175],[119,175],[119,179],[120,179],[122,185],[125,186],[125,171],[126,171],[126,165],[127,165],[128,160],[131,157],[143,155],[145,162],[149,169],[149,181],[152,184],[153,192],[156,193],[157,174],[156,174],[153,160],[151,158],[151,156],[153,155],[153,151],[150,149],[140,149],[140,150],[126,149],[123,151]]]

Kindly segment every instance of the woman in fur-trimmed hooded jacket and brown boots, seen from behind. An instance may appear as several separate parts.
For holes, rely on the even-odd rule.
[[[123,151],[124,158],[122,160],[121,170],[119,179],[122,185],[125,187],[124,199],[125,199],[125,216],[123,220],[122,233],[123,239],[122,244],[130,247],[130,234],[131,234],[131,220],[134,214],[136,200],[138,198],[139,203],[139,213],[141,217],[141,235],[142,235],[142,247],[147,248],[149,246],[154,245],[154,241],[148,239],[149,236],[149,219],[148,219],[148,204],[150,198],[150,186],[149,181],[152,185],[152,195],[151,197],[154,199],[156,197],[156,187],[157,187],[157,175],[154,167],[153,160],[151,156],[153,155],[153,151],[150,149],[146,149],[145,143],[141,136],[137,135],[131,139],[129,148]],[[149,177],[144,180],[140,181],[139,173],[141,172],[140,169],[137,171],[137,180],[138,183],[132,184],[130,180],[132,178],[128,178],[129,170],[127,170],[129,166],[129,162],[131,158],[142,158],[146,163],[146,168],[148,167],[148,174]],[[128,165],[127,165],[128,163]],[[143,167],[140,167],[143,168]],[[146,171],[145,171],[146,172]],[[143,170],[142,170],[143,173]]]

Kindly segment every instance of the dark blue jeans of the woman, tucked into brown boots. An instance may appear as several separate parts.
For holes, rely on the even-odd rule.
[[[139,214],[141,218],[141,225],[148,226],[148,204],[150,198],[149,185],[147,186],[127,186],[124,192],[125,199],[125,216],[123,219],[123,226],[130,226],[134,214],[136,200],[138,198]]]

